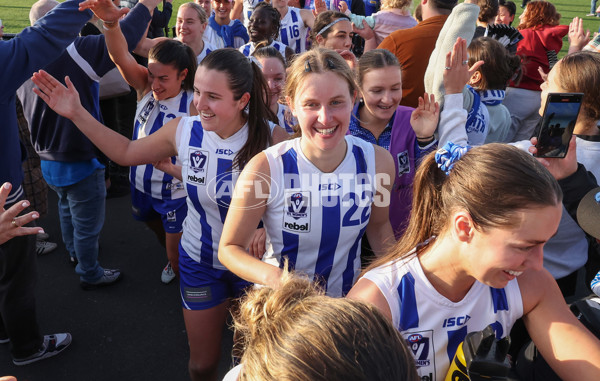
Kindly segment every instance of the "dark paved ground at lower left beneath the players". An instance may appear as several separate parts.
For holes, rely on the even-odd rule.
[[[8,345],[0,344],[0,376],[19,381],[189,380],[179,283],[161,283],[166,254],[154,234],[131,217],[129,196],[107,200],[100,238],[100,264],[120,268],[123,279],[93,291],[79,287],[67,263],[56,196],[49,191],[49,197],[50,212],[41,225],[60,243],[38,257],[37,314],[44,334],[70,332],[73,343],[59,356],[24,367],[14,366]],[[229,365],[228,336],[222,374]]]

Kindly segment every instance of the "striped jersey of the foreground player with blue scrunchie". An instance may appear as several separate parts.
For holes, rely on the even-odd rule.
[[[463,300],[454,303],[435,290],[415,255],[373,269],[364,278],[385,296],[394,327],[406,339],[421,379],[444,380],[469,332],[491,324],[496,337],[502,338],[523,315],[516,279],[500,289],[475,281]]]

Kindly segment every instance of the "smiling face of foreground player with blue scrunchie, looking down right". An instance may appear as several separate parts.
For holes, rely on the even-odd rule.
[[[527,270],[543,267],[544,244],[556,233],[562,204],[517,212],[518,223],[511,228],[475,231],[466,268],[480,282],[503,288]]]

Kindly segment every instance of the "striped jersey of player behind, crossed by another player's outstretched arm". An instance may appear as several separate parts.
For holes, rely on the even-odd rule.
[[[181,90],[173,98],[157,101],[149,91],[137,104],[133,140],[155,133],[177,117],[188,116],[193,97],[193,91]],[[173,156],[171,161],[181,164],[177,156]],[[154,168],[152,164],[132,166],[129,176],[135,189],[153,198],[174,200],[186,196],[181,181]]]

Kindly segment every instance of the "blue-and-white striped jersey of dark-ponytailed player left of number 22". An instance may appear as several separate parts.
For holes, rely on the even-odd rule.
[[[248,139],[248,125],[227,139],[205,131],[199,117],[182,118],[177,128],[181,172],[188,195],[181,246],[196,262],[227,270],[219,262],[217,250],[239,176],[231,166]]]

